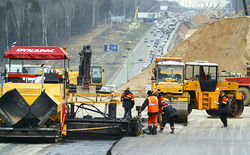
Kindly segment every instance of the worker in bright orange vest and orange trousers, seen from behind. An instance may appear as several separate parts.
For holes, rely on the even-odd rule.
[[[157,134],[157,126],[158,126],[158,114],[159,114],[159,105],[160,101],[158,101],[157,97],[152,93],[152,91],[147,92],[148,97],[142,104],[142,111],[148,106],[148,134]],[[154,127],[152,128],[152,122]]]

